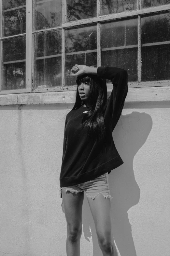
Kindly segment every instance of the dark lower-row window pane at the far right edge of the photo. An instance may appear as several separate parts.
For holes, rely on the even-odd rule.
[[[142,81],[170,79],[170,13],[141,18]]]

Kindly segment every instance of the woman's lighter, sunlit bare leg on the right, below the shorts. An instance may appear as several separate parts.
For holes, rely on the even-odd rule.
[[[101,193],[94,200],[89,197],[87,199],[103,256],[118,256],[111,228],[110,199],[104,197]]]

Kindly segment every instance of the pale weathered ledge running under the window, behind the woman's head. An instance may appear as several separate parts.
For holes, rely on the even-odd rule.
[[[108,96],[112,89],[107,89]],[[76,91],[1,94],[0,105],[73,104]],[[170,86],[128,88],[125,102],[170,101]]]

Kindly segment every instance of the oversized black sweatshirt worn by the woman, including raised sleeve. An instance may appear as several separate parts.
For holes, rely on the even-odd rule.
[[[97,77],[110,79],[113,84],[104,112],[110,143],[108,147],[104,147],[100,142],[90,140],[87,131],[81,127],[82,118],[91,107],[81,106],[71,110],[65,120],[61,188],[95,179],[123,164],[115,147],[112,132],[120,118],[128,92],[127,72],[116,67],[98,67]]]

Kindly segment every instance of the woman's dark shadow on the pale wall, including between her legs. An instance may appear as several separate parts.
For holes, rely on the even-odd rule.
[[[109,188],[112,208],[112,232],[121,256],[136,256],[128,210],[139,202],[140,189],[135,180],[133,160],[144,145],[152,128],[152,119],[145,112],[132,112],[120,116],[113,132],[113,140],[124,162],[109,174]],[[141,159],[142,161],[142,159]],[[82,209],[83,232],[90,241],[92,237],[93,256],[102,256],[98,245],[95,226],[84,197]]]

